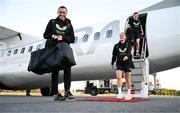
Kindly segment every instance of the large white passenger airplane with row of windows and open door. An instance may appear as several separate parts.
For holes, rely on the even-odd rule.
[[[140,60],[145,67],[141,82],[145,96],[149,74],[180,66],[179,10],[179,0],[164,0],[138,11],[145,31]],[[127,14],[110,22],[75,29],[75,43],[71,47],[77,65],[72,67],[72,81],[115,78],[110,64],[112,49],[131,17]],[[43,96],[51,95],[51,73],[37,75],[27,71],[31,52],[44,48],[45,42],[45,39],[0,26],[0,89],[40,88]],[[61,72],[59,83],[63,82],[62,75]]]

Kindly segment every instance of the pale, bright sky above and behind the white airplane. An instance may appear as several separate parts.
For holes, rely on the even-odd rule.
[[[76,29],[132,14],[159,1],[162,0],[0,0],[0,26],[42,38],[48,21],[56,18],[61,5],[68,8],[68,18]],[[180,68],[157,73],[162,88],[180,90],[179,76]]]

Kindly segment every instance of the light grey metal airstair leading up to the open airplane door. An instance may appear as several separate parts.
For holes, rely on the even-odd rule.
[[[143,38],[141,51],[142,52],[139,58],[136,58],[135,56],[133,59],[135,68],[131,71],[131,94],[133,95],[133,97],[147,98],[149,85],[149,60],[145,57],[145,38]],[[124,94],[127,91],[126,88],[123,88],[122,90]]]

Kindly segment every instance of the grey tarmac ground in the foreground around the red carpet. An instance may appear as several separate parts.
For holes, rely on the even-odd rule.
[[[150,96],[142,102],[79,101],[115,96],[75,96],[54,101],[52,96],[0,95],[0,113],[180,113],[180,97]]]

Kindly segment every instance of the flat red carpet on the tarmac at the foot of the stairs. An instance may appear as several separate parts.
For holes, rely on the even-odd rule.
[[[139,98],[133,98],[131,100],[118,99],[118,98],[82,98],[78,101],[97,101],[97,102],[144,102],[145,100]]]

